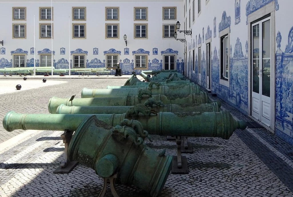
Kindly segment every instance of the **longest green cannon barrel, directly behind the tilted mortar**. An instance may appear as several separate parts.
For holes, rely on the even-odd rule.
[[[100,121],[119,125],[124,114],[95,114]],[[15,129],[76,130],[87,114],[18,114],[8,112],[3,119],[7,131]],[[237,128],[245,129],[245,121],[236,121],[229,111],[220,112],[159,112],[138,115],[143,128],[154,135],[182,135],[192,137],[222,137],[229,139]]]

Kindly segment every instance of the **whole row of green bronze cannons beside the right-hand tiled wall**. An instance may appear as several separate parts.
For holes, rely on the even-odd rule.
[[[114,180],[158,196],[171,170],[188,173],[186,157],[181,156],[192,151],[187,137],[229,139],[235,129],[245,129],[246,122],[220,110],[219,101],[212,102],[176,70],[140,75],[147,82],[132,75],[124,86],[83,88],[81,98],[52,97],[50,114],[10,111],[4,128],[64,131],[64,162],[54,173],[68,173],[77,162],[93,168],[104,180],[100,196],[108,181],[113,195],[119,196]],[[175,136],[177,156],[147,147],[144,140],[152,142],[151,135]]]

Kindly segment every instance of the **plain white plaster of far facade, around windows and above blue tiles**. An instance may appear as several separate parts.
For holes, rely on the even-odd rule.
[[[51,1],[0,1],[1,2],[1,40],[4,40],[5,54],[0,55],[10,61],[12,55],[10,51],[21,48],[28,51],[26,59],[30,60],[34,55],[30,54],[30,48],[34,47],[34,15],[36,48],[35,51],[48,48],[52,50],[50,39],[39,39],[39,7],[50,7]],[[105,59],[103,51],[114,48],[121,51],[120,60],[126,58],[130,61],[134,59],[132,51],[139,48],[149,51],[148,60],[150,63],[155,58],[163,60],[161,51],[171,48],[178,51],[176,59],[181,63],[183,57],[183,43],[175,41],[174,38],[162,38],[162,24],[175,24],[177,20],[183,19],[182,1],[53,1],[53,50],[55,51],[54,60],[57,62],[61,58],[68,61],[69,51],[81,48],[88,51],[86,59],[91,62],[97,58],[101,62]],[[26,23],[26,39],[12,39],[12,7],[26,7],[26,20],[19,23]],[[72,21],[72,7],[86,7],[86,21]],[[119,7],[119,21],[105,21],[105,7]],[[134,21],[134,7],[148,7],[148,21]],[[176,20],[163,20],[162,7],[177,7]],[[70,20],[69,20],[70,18]],[[51,21],[44,21],[50,23]],[[70,23],[70,25],[69,25]],[[72,23],[86,23],[86,39],[70,39],[69,32],[72,34]],[[119,39],[105,39],[105,23],[120,24]],[[134,39],[134,23],[148,24],[148,39]],[[70,26],[70,28],[69,28]],[[123,35],[127,35],[127,47]],[[1,46],[2,47],[2,46]],[[65,48],[65,55],[60,55],[60,48]],[[93,55],[93,48],[98,48],[98,55]],[[124,48],[129,48],[129,55],[124,55]],[[158,48],[158,55],[153,55],[153,48]],[[71,56],[72,58],[72,56]],[[40,59],[36,55],[36,60]],[[3,60],[4,61],[4,60]],[[156,62],[156,61],[155,61]],[[163,62],[162,62],[163,63]]]

